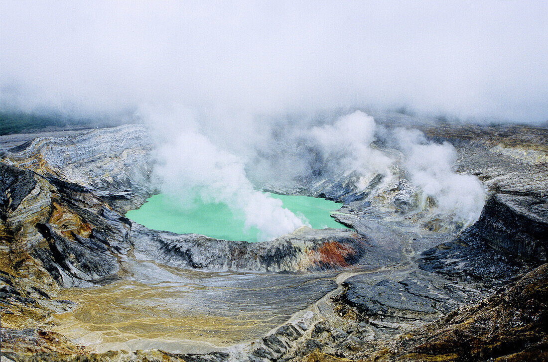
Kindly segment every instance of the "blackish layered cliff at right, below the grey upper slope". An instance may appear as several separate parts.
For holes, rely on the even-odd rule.
[[[419,267],[451,279],[505,284],[546,261],[546,210],[543,199],[494,194],[474,225],[454,240],[424,251]]]

